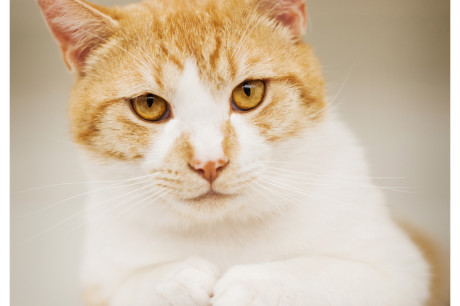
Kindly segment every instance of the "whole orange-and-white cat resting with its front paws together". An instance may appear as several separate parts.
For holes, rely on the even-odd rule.
[[[303,0],[38,0],[75,76],[87,305],[423,305]]]

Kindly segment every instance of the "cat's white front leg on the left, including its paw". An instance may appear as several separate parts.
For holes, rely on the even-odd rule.
[[[218,277],[217,266],[201,258],[139,271],[117,290],[110,306],[208,306]]]

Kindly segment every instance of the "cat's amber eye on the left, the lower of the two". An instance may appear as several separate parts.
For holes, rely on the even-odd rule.
[[[133,110],[139,117],[148,121],[161,121],[169,118],[169,104],[163,98],[146,94],[131,99]]]

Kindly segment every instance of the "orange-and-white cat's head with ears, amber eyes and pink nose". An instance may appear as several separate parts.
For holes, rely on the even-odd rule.
[[[76,75],[76,142],[177,210],[235,211],[276,148],[322,120],[302,0],[38,2]]]

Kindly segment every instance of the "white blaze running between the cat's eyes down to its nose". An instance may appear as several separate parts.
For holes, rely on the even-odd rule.
[[[200,79],[195,62],[188,60],[177,84],[173,112],[183,131],[190,135],[196,159],[216,160],[224,155],[222,127],[230,107],[224,101],[212,97]]]

